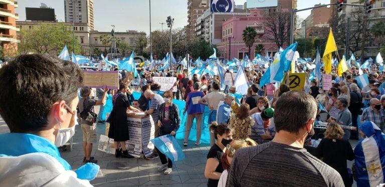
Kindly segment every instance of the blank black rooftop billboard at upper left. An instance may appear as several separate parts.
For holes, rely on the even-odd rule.
[[[26,20],[55,21],[55,9],[26,7]]]

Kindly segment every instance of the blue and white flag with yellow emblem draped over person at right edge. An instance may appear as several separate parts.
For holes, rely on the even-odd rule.
[[[362,123],[359,129],[366,137],[354,148],[357,186],[377,186],[385,182],[385,135],[371,121]]]

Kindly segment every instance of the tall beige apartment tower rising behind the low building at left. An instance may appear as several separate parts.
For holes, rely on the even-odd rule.
[[[94,30],[93,0],[64,0],[65,21],[72,23],[87,23]]]

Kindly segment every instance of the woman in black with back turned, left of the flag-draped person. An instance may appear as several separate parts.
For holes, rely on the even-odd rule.
[[[343,134],[337,123],[329,123],[324,133],[325,138],[317,147],[316,156],[323,158],[323,162],[338,171],[345,186],[351,186],[353,180],[349,178],[346,161],[354,159],[354,152],[350,143],[342,139]]]

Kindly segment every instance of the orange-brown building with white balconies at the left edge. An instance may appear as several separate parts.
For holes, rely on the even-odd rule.
[[[0,0],[0,43],[5,57],[13,57],[18,51],[17,43],[20,41],[16,31],[20,29],[16,26],[16,20],[19,20],[19,15],[15,13],[18,7],[18,2],[14,0]]]

